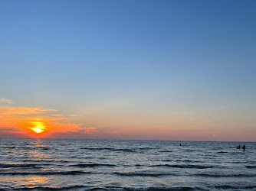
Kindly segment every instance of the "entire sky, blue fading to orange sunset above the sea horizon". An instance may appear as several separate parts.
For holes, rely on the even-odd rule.
[[[0,138],[256,141],[255,9],[0,1]]]

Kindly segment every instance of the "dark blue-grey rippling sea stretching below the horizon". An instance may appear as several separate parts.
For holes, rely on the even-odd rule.
[[[256,190],[256,143],[238,144],[0,139],[0,190]]]

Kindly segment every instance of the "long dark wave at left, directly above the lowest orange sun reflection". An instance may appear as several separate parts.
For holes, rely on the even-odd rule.
[[[84,172],[84,171],[38,171],[38,172],[7,172],[2,173],[0,175],[77,175],[77,174],[88,174],[91,172]]]

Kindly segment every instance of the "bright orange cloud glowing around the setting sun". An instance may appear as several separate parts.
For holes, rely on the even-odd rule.
[[[8,107],[0,106],[0,132],[1,134],[26,134],[34,137],[40,134],[47,138],[48,134],[54,133],[77,133],[95,134],[96,128],[84,128],[74,123],[65,123],[67,118],[61,115],[51,115],[54,109]]]

